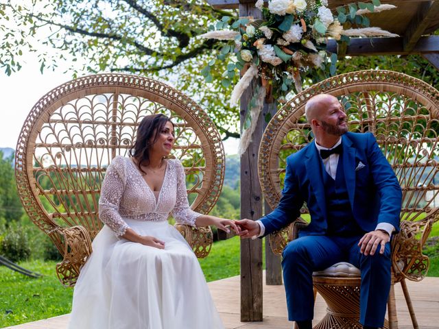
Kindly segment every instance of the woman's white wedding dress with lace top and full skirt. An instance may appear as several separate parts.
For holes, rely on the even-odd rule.
[[[73,293],[70,329],[220,329],[195,254],[167,223],[194,225],[185,171],[167,160],[158,197],[129,158],[112,160],[102,183],[99,218],[106,224]],[[127,228],[165,241],[156,249],[121,238]]]

